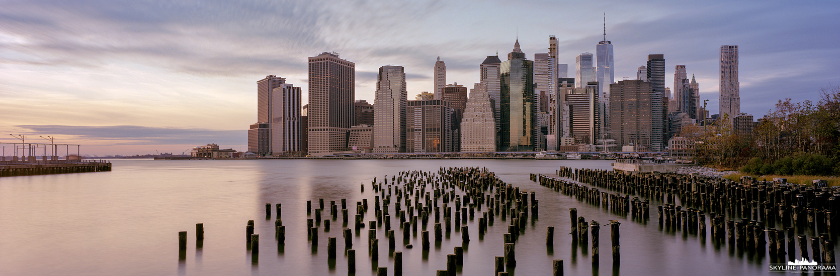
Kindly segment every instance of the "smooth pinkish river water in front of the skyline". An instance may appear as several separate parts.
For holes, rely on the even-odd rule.
[[[530,180],[528,174],[554,174],[560,166],[609,169],[596,160],[113,160],[112,172],[53,174],[0,179],[0,275],[346,275],[347,258],[341,216],[331,232],[319,233],[319,247],[307,242],[306,200],[314,208],[318,198],[347,198],[348,209],[362,198],[370,200],[365,221],[375,220],[370,180],[402,170],[437,171],[440,166],[480,166],[496,172],[509,184],[536,191],[538,221],[517,242],[516,275],[548,275],[552,259],[564,259],[566,275],[747,275],[770,274],[769,258],[751,258],[716,247],[682,232],[662,232],[655,222],[631,221],[609,211],[561,195]],[[390,177],[389,177],[390,178]],[[365,192],[359,185],[365,183]],[[396,198],[394,198],[396,200]],[[265,220],[265,203],[281,203],[286,247],[277,253],[274,216]],[[272,206],[273,207],[273,206]],[[327,207],[328,208],[328,207]],[[340,206],[339,206],[340,208]],[[391,214],[394,214],[391,206]],[[601,265],[593,268],[590,249],[573,248],[569,208],[578,216],[601,222]],[[482,211],[486,211],[482,209]],[[273,208],[272,208],[273,212]],[[323,218],[328,218],[324,211]],[[477,216],[480,213],[477,214]],[[314,215],[312,215],[314,216]],[[251,263],[244,228],[255,220],[260,234],[260,261]],[[405,275],[434,275],[446,268],[446,254],[460,246],[452,232],[440,247],[424,254],[420,235],[403,252]],[[614,270],[610,255],[610,220],[621,221],[622,263]],[[350,219],[352,227],[353,219]],[[204,223],[203,247],[196,248],[195,224]],[[433,216],[428,230],[433,240]],[[496,216],[494,227],[479,239],[478,219],[470,221],[469,247],[460,275],[491,275],[494,256],[503,255],[502,233],[509,221]],[[453,223],[454,224],[454,223]],[[555,227],[554,250],[545,247],[545,228]],[[323,228],[323,227],[322,227]],[[381,227],[384,229],[384,227]],[[187,231],[186,259],[179,261],[177,232]],[[367,254],[367,229],[354,233],[356,275],[375,275]],[[328,263],[327,237],[338,237],[339,257]],[[384,230],[378,266],[389,267]],[[711,237],[711,233],[709,235]],[[428,255],[428,257],[426,257]]]

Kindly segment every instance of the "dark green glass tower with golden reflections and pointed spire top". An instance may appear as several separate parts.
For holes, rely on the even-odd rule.
[[[533,61],[525,60],[517,39],[507,60],[501,62],[500,150],[533,150],[533,90]]]

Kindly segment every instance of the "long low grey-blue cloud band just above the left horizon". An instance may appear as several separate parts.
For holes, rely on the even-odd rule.
[[[216,130],[205,128],[153,128],[142,126],[63,126],[19,125],[21,132],[58,136],[56,143],[91,143],[102,145],[154,145],[217,143],[226,145],[247,144],[247,130]],[[26,135],[26,134],[24,134]],[[63,136],[63,137],[62,137]],[[71,137],[68,142],[68,138]],[[60,141],[60,142],[59,142]]]

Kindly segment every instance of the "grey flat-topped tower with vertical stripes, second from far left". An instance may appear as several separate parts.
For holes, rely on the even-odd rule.
[[[284,83],[272,90],[271,155],[286,155],[301,150],[301,87]]]

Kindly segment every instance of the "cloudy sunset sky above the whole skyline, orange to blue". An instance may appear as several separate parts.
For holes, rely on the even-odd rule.
[[[81,154],[181,154],[217,143],[247,150],[256,81],[302,87],[307,57],[355,63],[355,97],[373,102],[382,65],[405,67],[409,99],[433,66],[472,87],[479,65],[528,60],[559,39],[559,62],[615,52],[616,81],[663,54],[700,83],[717,113],[721,45],[738,45],[741,111],[819,99],[840,83],[840,2],[816,1],[224,1],[0,0],[0,142],[81,144]],[[4,151],[11,148],[7,145]]]

